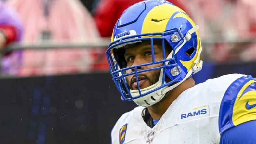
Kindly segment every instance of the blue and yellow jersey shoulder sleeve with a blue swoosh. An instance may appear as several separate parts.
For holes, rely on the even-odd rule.
[[[220,105],[219,132],[256,120],[256,80],[251,76],[235,80],[226,90]]]

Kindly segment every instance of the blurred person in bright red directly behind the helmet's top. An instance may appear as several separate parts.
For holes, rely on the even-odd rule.
[[[141,0],[101,0],[94,14],[94,20],[102,37],[111,37],[113,27],[122,12],[129,6],[140,2]],[[167,0],[174,5],[185,10],[189,14],[189,10],[179,0]]]

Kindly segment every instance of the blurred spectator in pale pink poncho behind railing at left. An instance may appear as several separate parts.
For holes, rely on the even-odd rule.
[[[79,0],[9,0],[24,24],[24,44],[97,41],[98,30]],[[102,49],[24,50],[18,76],[88,72]]]

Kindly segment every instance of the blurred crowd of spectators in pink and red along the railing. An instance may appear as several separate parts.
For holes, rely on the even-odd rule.
[[[140,0],[0,0],[0,48],[9,44],[97,42],[111,37],[122,12]],[[200,26],[204,54],[215,62],[256,60],[254,0],[168,0]],[[208,43],[208,44],[207,44]],[[1,72],[34,76],[107,71],[106,48],[26,49],[3,53]]]

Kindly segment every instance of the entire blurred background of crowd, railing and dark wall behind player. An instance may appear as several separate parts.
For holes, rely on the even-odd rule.
[[[122,11],[140,0],[0,0],[0,143],[110,143],[122,102],[105,50]],[[168,0],[200,26],[196,83],[256,77],[254,0]]]

